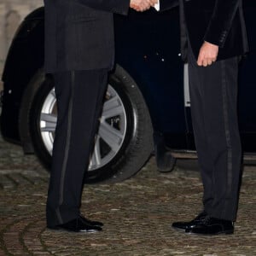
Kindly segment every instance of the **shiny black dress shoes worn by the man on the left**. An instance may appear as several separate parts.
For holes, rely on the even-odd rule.
[[[84,219],[79,216],[79,218],[75,218],[65,224],[60,224],[54,227],[48,227],[51,230],[66,230],[69,232],[88,232],[94,233],[97,231],[101,231],[102,227],[87,224],[84,222]]]

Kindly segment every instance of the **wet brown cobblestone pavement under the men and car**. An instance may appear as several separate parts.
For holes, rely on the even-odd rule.
[[[35,156],[0,139],[0,255],[256,255],[256,167],[243,172],[233,236],[189,236],[175,220],[201,210],[198,172],[156,171],[154,158],[123,183],[85,186],[82,212],[102,220],[98,234],[45,228],[49,175]]]

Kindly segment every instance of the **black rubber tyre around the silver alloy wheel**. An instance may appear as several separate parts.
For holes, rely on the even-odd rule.
[[[113,158],[109,158],[109,161],[103,166],[89,170],[85,181],[87,183],[119,182],[132,177],[143,167],[153,151],[151,119],[137,84],[119,66],[116,67],[114,73],[110,74],[108,83],[106,97],[110,94],[109,90],[111,89],[119,96],[119,102],[122,102],[125,113],[125,133],[123,142]],[[31,140],[35,154],[49,170],[51,154],[44,143],[42,137],[44,133],[40,124],[44,103],[53,88],[54,82],[51,76],[45,76],[43,70],[39,70],[26,88],[20,108],[20,130],[25,134],[23,137],[26,140]],[[113,126],[114,122],[115,120],[112,120],[108,125]],[[101,126],[99,134],[100,132]],[[53,138],[50,140],[53,143]]]

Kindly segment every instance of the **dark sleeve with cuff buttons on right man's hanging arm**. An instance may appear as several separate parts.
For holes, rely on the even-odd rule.
[[[224,47],[241,0],[216,0],[204,40]]]

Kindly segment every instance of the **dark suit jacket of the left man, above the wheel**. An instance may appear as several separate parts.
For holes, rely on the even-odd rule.
[[[47,73],[112,68],[113,13],[130,0],[44,0]]]

